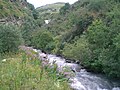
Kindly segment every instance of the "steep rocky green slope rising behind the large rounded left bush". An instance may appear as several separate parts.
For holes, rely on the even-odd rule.
[[[26,0],[0,0],[0,25],[3,26],[3,28],[0,27],[1,32],[4,29],[9,32],[8,28],[11,25],[15,27],[13,30],[17,27],[16,30],[19,30],[21,39],[26,45],[28,45],[28,42],[30,43],[32,32],[38,28],[35,18],[35,8]],[[1,36],[4,35],[7,36],[7,33],[1,34]],[[5,42],[7,43],[7,41]],[[0,43],[3,42],[0,41]],[[14,45],[10,46],[14,47]]]

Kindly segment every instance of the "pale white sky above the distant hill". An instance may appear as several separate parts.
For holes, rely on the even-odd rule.
[[[29,3],[33,4],[35,8],[46,5],[46,4],[51,4],[51,3],[56,3],[56,2],[69,2],[70,4],[73,4],[74,2],[78,0],[27,0]]]

